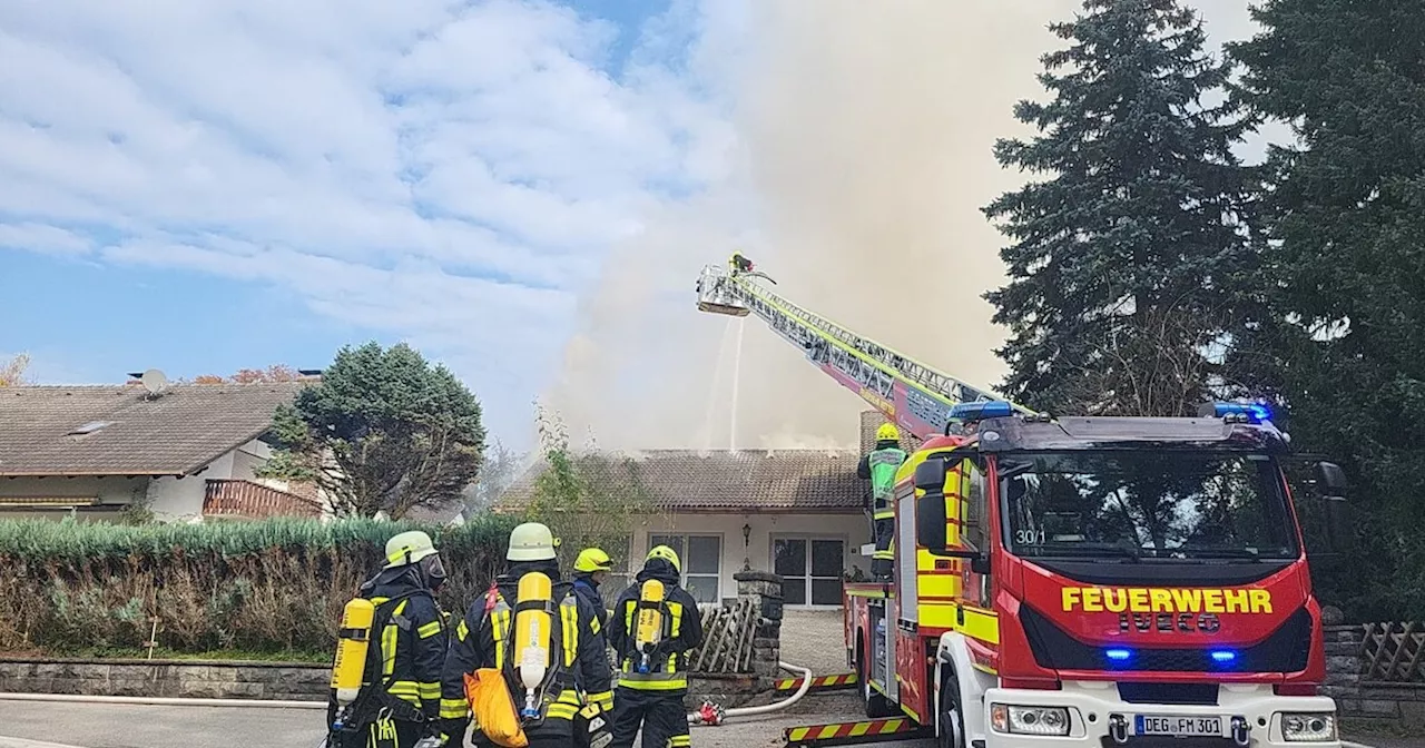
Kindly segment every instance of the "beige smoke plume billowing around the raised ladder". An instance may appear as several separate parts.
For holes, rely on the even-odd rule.
[[[1045,27],[1076,6],[750,3],[745,48],[720,68],[727,175],[616,248],[549,405],[603,447],[855,446],[859,398],[758,319],[697,312],[698,269],[734,249],[808,309],[996,386],[1005,331],[980,294],[1005,281],[1005,239],[980,208],[1025,175],[992,147],[1025,134],[1013,105],[1043,98]]]

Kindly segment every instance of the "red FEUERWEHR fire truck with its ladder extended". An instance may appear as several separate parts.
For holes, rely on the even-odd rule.
[[[1265,406],[1049,417],[735,265],[704,268],[698,302],[755,313],[923,440],[898,473],[891,576],[845,586],[872,721],[789,729],[789,745],[1340,745],[1288,439]],[[1342,472],[1315,477],[1341,549]]]

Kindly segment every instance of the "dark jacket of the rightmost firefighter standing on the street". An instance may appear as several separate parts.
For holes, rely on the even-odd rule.
[[[640,586],[657,578],[664,586],[663,640],[658,643],[648,672],[638,672],[640,653],[634,643],[638,618]],[[688,687],[684,655],[703,644],[703,620],[698,603],[678,586],[678,570],[663,559],[650,559],[628,586],[608,617],[608,644],[618,655],[618,685],[640,691],[680,691]]]

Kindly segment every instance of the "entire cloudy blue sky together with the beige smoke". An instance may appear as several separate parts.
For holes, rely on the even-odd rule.
[[[0,355],[120,382],[406,341],[519,446],[536,398],[606,445],[845,443],[855,398],[767,331],[730,348],[698,268],[751,246],[792,298],[998,380],[979,207],[1023,177],[990,147],[1076,6],[0,3]],[[1218,38],[1235,6],[1203,3]],[[901,272],[933,266],[955,315],[908,323],[885,299],[943,295]]]

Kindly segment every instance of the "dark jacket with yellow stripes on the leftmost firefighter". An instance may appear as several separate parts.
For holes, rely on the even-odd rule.
[[[446,655],[445,615],[435,596],[409,566],[383,570],[361,594],[376,606],[376,617],[363,685],[370,698],[361,700],[363,714],[353,721],[375,720],[380,708],[390,708],[399,721],[435,722]]]

